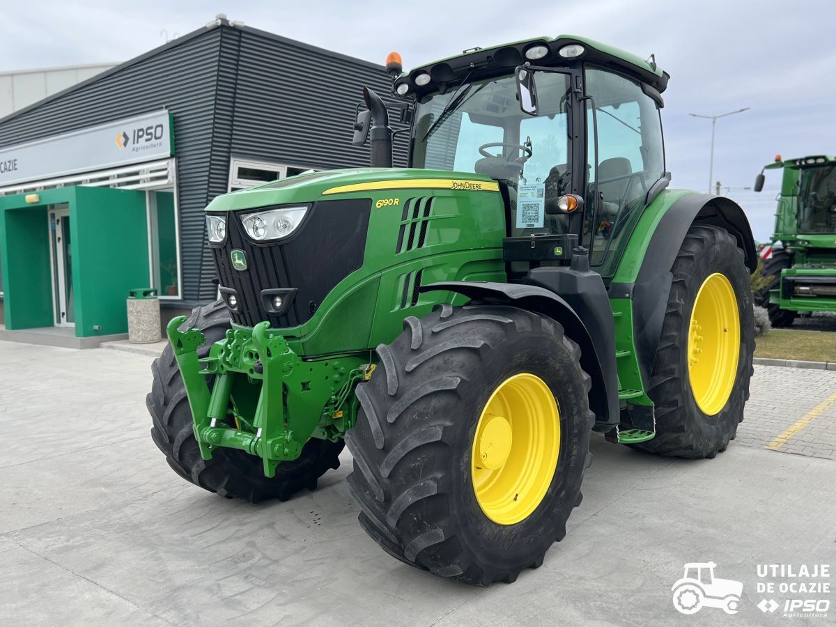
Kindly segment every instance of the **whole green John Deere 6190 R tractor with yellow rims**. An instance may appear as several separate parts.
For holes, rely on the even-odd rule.
[[[253,502],[314,489],[346,444],[381,548],[511,582],[565,535],[592,431],[726,449],[757,252],[734,202],[668,189],[654,59],[571,36],[390,57],[410,167],[365,89],[372,167],[206,207],[222,298],[168,325],[151,434],[186,481]]]

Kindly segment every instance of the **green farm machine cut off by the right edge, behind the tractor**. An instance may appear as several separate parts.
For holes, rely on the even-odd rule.
[[[812,155],[774,163],[783,168],[775,212],[775,232],[760,249],[769,283],[755,293],[777,327],[793,324],[799,314],[836,312],[836,158]],[[755,191],[763,189],[763,171]]]

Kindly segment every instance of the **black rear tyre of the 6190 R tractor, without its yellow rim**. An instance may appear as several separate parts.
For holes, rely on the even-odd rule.
[[[735,238],[725,229],[711,226],[689,229],[671,272],[673,283],[648,390],[655,404],[656,436],[631,446],[665,456],[714,457],[725,451],[737,434],[743,405],[749,398],[755,349],[749,272]],[[700,288],[716,274],[727,279],[737,300],[739,349],[731,392],[719,411],[707,415],[689,378],[689,329]]]

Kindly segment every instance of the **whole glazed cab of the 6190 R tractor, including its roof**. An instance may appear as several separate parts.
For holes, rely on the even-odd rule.
[[[507,261],[567,263],[581,245],[610,276],[630,227],[667,184],[659,113],[667,74],[599,49],[578,38],[533,40],[395,79],[413,108],[410,166],[499,183],[507,235],[525,240],[507,242]]]

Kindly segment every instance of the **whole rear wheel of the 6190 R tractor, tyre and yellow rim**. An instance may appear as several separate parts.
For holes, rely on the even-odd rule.
[[[749,398],[754,314],[743,252],[720,227],[689,229],[673,268],[648,395],[656,436],[632,445],[665,456],[725,451]]]

